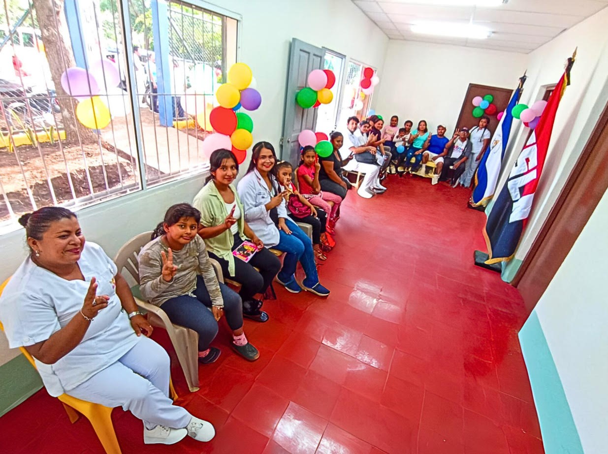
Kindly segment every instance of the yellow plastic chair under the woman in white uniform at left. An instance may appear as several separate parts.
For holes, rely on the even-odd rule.
[[[2,285],[0,285],[0,296],[2,295],[2,291],[4,291],[4,287],[7,283],[9,283],[10,278],[5,280]],[[0,322],[0,329],[4,331],[4,325]],[[36,369],[36,363],[32,355],[24,348],[19,347],[19,350],[26,357],[26,359],[30,362],[34,369]],[[37,370],[37,369],[36,369]],[[169,382],[169,393],[173,398],[173,401],[178,399],[178,394],[175,392],[173,388],[173,383]],[[116,432],[114,432],[114,425],[112,424],[112,410],[113,408],[105,407],[104,405],[94,404],[93,402],[81,401],[76,397],[69,396],[68,394],[61,394],[57,399],[63,405],[63,408],[66,410],[67,417],[70,419],[70,422],[74,424],[74,422],[78,421],[80,416],[78,413],[86,416],[86,419],[91,422],[93,426],[93,430],[97,434],[97,438],[102,443],[103,449],[108,454],[121,454],[120,445],[118,444],[118,439],[116,438]]]

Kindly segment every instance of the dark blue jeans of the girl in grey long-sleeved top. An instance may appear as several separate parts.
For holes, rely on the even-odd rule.
[[[224,315],[230,329],[234,331],[243,326],[243,303],[237,292],[224,283],[219,283],[224,300]],[[209,309],[211,297],[201,276],[196,277],[196,289],[190,294],[170,298],[161,304],[171,323],[185,326],[198,332],[198,351],[205,351],[218,334],[218,322]]]

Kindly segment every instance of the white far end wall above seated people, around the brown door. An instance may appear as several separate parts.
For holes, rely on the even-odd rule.
[[[514,89],[527,60],[524,53],[389,41],[371,107],[384,119],[399,115],[399,126],[426,120],[431,131],[441,124],[451,133],[469,83]]]

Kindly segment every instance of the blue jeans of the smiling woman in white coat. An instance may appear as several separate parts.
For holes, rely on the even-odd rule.
[[[291,219],[285,219],[285,225],[291,230],[291,235],[287,235],[279,229],[280,241],[277,246],[272,248],[286,253],[283,268],[278,272],[277,277],[282,282],[291,281],[294,277],[295,266],[300,261],[306,273],[304,286],[314,287],[319,283],[319,275],[317,275],[317,266],[314,263],[313,242]]]

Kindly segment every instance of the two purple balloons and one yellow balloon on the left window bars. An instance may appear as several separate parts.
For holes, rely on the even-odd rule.
[[[103,129],[112,119],[108,104],[100,97],[104,81],[107,88],[120,84],[118,67],[107,59],[94,61],[89,71],[71,67],[61,74],[61,87],[78,100],[76,118],[87,128]]]

